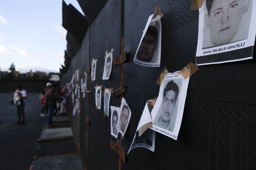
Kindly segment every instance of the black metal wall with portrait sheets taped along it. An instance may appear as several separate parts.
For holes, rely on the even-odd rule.
[[[118,169],[118,154],[110,149],[110,118],[95,109],[96,83],[106,88],[120,87],[120,65],[112,67],[109,80],[102,80],[105,51],[121,54],[121,37],[128,60],[123,64],[123,93],[131,110],[131,120],[122,140],[127,153],[145,102],[158,95],[155,84],[165,66],[169,72],[194,62],[198,35],[198,11],[190,10],[190,0],[108,0],[87,30],[82,47],[72,59],[62,84],[75,69],[80,73],[97,58],[96,81],[88,76],[89,89],[81,100],[82,112],[72,115],[75,142],[85,169]],[[156,6],[162,21],[161,67],[142,67],[133,62],[142,30]],[[87,7],[88,8],[88,7]],[[85,10],[85,9],[84,9]],[[255,54],[254,54],[255,56]],[[255,59],[200,66],[190,78],[178,140],[156,134],[155,152],[137,148],[127,156],[121,169],[255,169],[256,168],[256,76]],[[102,105],[103,108],[103,97]],[[120,97],[111,96],[110,105],[119,106]],[[69,103],[70,106],[70,103]],[[90,125],[86,124],[89,118]]]

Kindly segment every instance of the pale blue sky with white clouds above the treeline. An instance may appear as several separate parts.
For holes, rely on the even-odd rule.
[[[71,3],[83,14],[77,0]],[[83,14],[84,15],[84,14]],[[62,0],[0,0],[0,69],[59,72],[64,65],[67,31]]]

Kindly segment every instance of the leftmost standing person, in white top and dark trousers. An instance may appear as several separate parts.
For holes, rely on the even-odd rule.
[[[15,123],[15,125],[23,125],[25,124],[25,103],[27,98],[27,92],[23,89],[22,85],[17,86],[17,90],[15,91],[17,93],[17,96],[20,98],[19,105],[17,104],[17,115],[18,115],[18,121]]]

